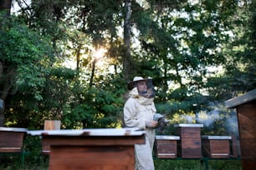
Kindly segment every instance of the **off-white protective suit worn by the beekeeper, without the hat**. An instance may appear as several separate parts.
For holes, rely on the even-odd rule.
[[[156,107],[153,97],[143,97],[139,94],[137,87],[134,87],[125,102],[124,121],[125,126],[140,128],[146,131],[146,144],[136,144],[136,170],[154,170],[152,150],[155,141],[155,129],[148,128],[146,122],[153,120]]]

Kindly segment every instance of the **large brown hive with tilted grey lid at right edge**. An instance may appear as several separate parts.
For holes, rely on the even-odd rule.
[[[225,102],[236,108],[243,170],[256,169],[256,89]]]

